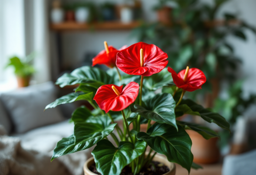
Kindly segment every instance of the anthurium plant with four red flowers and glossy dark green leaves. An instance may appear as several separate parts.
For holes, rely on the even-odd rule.
[[[46,109],[86,100],[94,110],[81,106],[73,112],[74,134],[57,143],[51,160],[96,145],[92,155],[102,175],[119,175],[125,166],[136,175],[152,162],[156,153],[188,172],[191,167],[198,168],[193,163],[192,142],[185,129],[206,139],[219,136],[205,126],[177,119],[184,114],[197,115],[229,130],[229,123],[221,115],[183,99],[186,92],[201,89],[206,82],[204,73],[187,67],[177,74],[172,68],[165,68],[168,56],[153,44],[139,42],[120,50],[106,42],[104,45],[105,50],[93,59],[93,65],[105,64],[116,70],[105,72],[84,66],[65,73],[56,82],[60,87],[80,85],[74,93],[58,98]],[[161,93],[161,89],[169,89],[169,93]],[[123,126],[117,124],[118,120],[122,120]],[[141,124],[146,123],[147,131],[141,132]]]

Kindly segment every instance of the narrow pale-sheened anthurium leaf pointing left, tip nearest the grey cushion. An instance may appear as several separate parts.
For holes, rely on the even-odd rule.
[[[78,100],[87,100],[89,102],[92,102],[93,92],[84,94],[83,92],[72,92],[70,94],[64,95],[58,99],[56,99],[54,102],[48,104],[45,109],[48,108],[55,108],[58,105],[66,104],[66,103],[72,103],[74,101]]]

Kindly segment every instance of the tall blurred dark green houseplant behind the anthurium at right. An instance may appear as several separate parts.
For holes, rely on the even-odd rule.
[[[169,64],[175,70],[181,70],[184,66],[201,69],[208,81],[201,91],[186,95],[204,104],[204,107],[214,107],[216,112],[221,112],[226,117],[226,113],[222,113],[223,109],[219,106],[223,107],[225,103],[224,111],[236,111],[240,106],[239,102],[232,103],[233,95],[225,100],[218,98],[221,82],[225,81],[229,87],[232,87],[237,81],[241,63],[228,37],[234,36],[246,41],[245,30],[249,29],[254,34],[256,30],[245,21],[238,19],[236,14],[225,13],[222,20],[217,19],[219,9],[228,0],[212,0],[211,4],[199,0],[163,0],[159,1],[155,9],[162,8],[170,2],[174,4],[170,11],[171,23],[144,23],[134,29],[133,36],[137,37],[138,41],[161,47],[169,55]],[[229,94],[233,93],[231,89]],[[218,100],[215,101],[216,98]],[[244,99],[241,102],[244,102]],[[233,115],[231,120],[234,123],[242,112],[228,115]],[[227,143],[226,138],[231,135],[226,133],[221,136],[223,136],[221,141]],[[222,145],[225,145],[224,142]]]

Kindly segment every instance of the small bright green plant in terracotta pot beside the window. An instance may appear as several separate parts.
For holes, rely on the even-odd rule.
[[[11,57],[6,67],[14,67],[14,73],[17,78],[18,87],[29,86],[30,78],[35,73],[32,65],[34,54],[28,55],[24,60],[18,57]]]

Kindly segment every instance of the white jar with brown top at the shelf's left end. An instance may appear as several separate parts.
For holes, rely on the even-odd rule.
[[[64,11],[61,8],[59,0],[54,0],[52,2],[51,21],[54,24],[62,23],[64,21]]]

